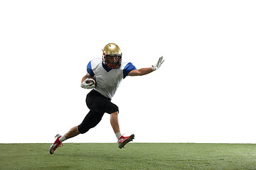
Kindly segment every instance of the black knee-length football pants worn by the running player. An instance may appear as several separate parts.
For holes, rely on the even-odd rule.
[[[80,133],[85,133],[91,128],[94,128],[100,120],[104,113],[114,113],[118,111],[118,107],[111,102],[110,98],[102,96],[99,92],[92,90],[86,97],[87,107],[90,109],[89,113],[82,120],[82,123],[78,125],[78,131]]]

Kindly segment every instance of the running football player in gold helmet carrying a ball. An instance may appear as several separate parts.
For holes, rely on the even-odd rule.
[[[50,154],[62,145],[62,142],[83,134],[94,128],[105,113],[110,114],[110,124],[117,137],[117,144],[120,149],[128,142],[134,139],[134,134],[124,137],[119,130],[118,106],[111,102],[114,93],[117,91],[119,84],[127,76],[142,76],[156,71],[164,62],[160,57],[158,62],[152,67],[137,69],[131,62],[122,61],[122,52],[114,44],[107,44],[102,50],[102,58],[95,58],[87,64],[87,74],[82,77],[81,87],[92,89],[86,97],[89,113],[82,120],[80,125],[71,128],[65,135],[56,135],[55,142],[50,146]],[[88,80],[95,77],[95,80],[88,83]],[[96,82],[96,83],[95,83]]]

